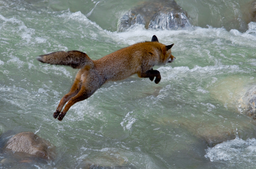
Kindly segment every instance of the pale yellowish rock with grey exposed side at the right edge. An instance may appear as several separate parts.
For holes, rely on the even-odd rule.
[[[256,118],[256,84],[248,77],[231,76],[210,89],[211,95],[230,111]]]

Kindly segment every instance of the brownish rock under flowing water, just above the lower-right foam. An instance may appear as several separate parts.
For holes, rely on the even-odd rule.
[[[189,118],[186,117],[179,118],[179,120],[176,119],[177,118],[173,117],[164,117],[157,120],[163,125],[174,125],[179,126],[181,129],[185,129],[208,147],[214,147],[219,143],[233,140],[236,137],[247,139],[255,138],[256,136],[255,122],[250,120],[250,118],[245,118],[246,120],[240,121],[239,123],[236,123],[233,120],[227,120],[225,123],[220,123],[218,119],[199,119],[198,121],[191,123]],[[183,131],[183,133],[186,132]]]

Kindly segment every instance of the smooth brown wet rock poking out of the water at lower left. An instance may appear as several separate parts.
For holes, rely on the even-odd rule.
[[[53,159],[55,156],[54,147],[45,139],[40,138],[33,132],[21,132],[13,136],[5,144],[6,151],[25,153],[44,159]]]

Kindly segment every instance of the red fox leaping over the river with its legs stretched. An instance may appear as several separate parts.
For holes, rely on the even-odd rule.
[[[59,116],[58,120],[61,121],[73,104],[89,98],[107,81],[122,80],[137,74],[138,77],[149,78],[151,81],[156,77],[155,83],[159,83],[160,72],[153,70],[152,67],[174,61],[175,57],[170,50],[173,45],[166,46],[159,43],[154,35],[151,42],[133,44],[98,60],[92,60],[80,51],[59,51],[38,56],[37,60],[42,63],[80,69],[69,93],[60,100],[53,117]]]

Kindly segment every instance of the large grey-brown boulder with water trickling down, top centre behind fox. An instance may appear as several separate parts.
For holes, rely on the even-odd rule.
[[[146,29],[178,30],[192,27],[187,12],[174,0],[144,2],[131,9],[120,19],[118,31],[122,32],[134,24],[143,24]]]

